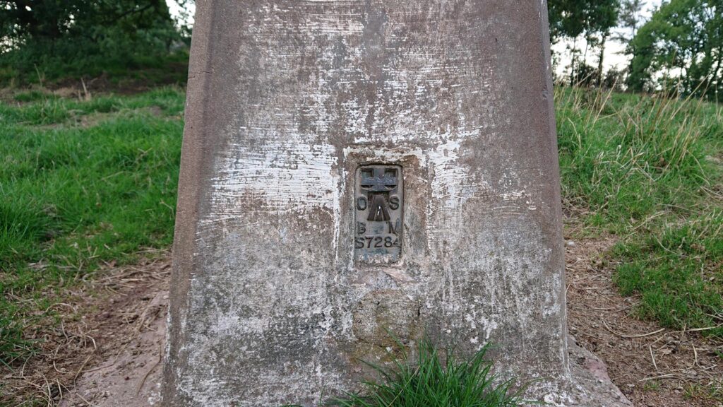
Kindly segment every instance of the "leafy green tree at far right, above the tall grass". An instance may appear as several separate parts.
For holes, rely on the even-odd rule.
[[[628,85],[709,96],[723,91],[723,0],[662,4],[630,41]]]

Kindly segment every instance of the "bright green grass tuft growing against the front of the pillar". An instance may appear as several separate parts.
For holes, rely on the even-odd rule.
[[[400,346],[403,348],[403,346]],[[379,381],[364,382],[361,393],[332,398],[323,406],[338,407],[515,407],[524,400],[513,390],[513,380],[492,373],[485,358],[489,346],[471,358],[458,358],[452,350],[440,351],[429,340],[419,344],[416,361],[408,353],[393,357],[392,368],[372,366]]]

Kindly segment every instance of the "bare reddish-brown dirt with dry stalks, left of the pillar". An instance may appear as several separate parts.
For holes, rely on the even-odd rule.
[[[38,339],[40,354],[1,368],[0,405],[150,406],[158,400],[166,335],[168,252],[128,267],[108,264],[60,303],[60,324]]]

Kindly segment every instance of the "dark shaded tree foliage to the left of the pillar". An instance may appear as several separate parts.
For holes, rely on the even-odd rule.
[[[125,69],[168,54],[183,34],[165,0],[0,0],[0,64],[19,76]]]

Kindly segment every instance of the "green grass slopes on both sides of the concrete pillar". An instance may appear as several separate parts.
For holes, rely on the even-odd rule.
[[[562,191],[612,234],[636,312],[723,337],[723,109],[557,91]],[[0,104],[0,361],[33,353],[56,293],[103,261],[171,244],[184,92],[88,101],[35,89]]]

